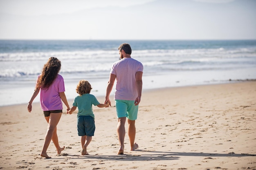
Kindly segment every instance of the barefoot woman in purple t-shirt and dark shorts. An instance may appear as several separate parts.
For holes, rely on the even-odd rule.
[[[67,103],[67,98],[64,93],[65,86],[63,77],[58,74],[60,69],[61,61],[56,57],[50,57],[48,62],[44,65],[42,73],[37,77],[35,91],[27,105],[27,110],[31,112],[32,102],[41,90],[40,105],[48,123],[45,142],[41,152],[41,157],[45,158],[51,158],[46,153],[51,140],[58,154],[65,148],[65,146],[63,148],[59,146],[57,136],[57,124],[61,119],[63,109],[61,100],[67,106],[67,110],[70,110],[70,106]]]

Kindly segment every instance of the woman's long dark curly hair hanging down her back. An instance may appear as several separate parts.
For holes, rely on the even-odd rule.
[[[37,80],[37,88],[49,88],[56,79],[58,72],[61,70],[61,61],[56,57],[50,57],[43,66],[42,73]]]

